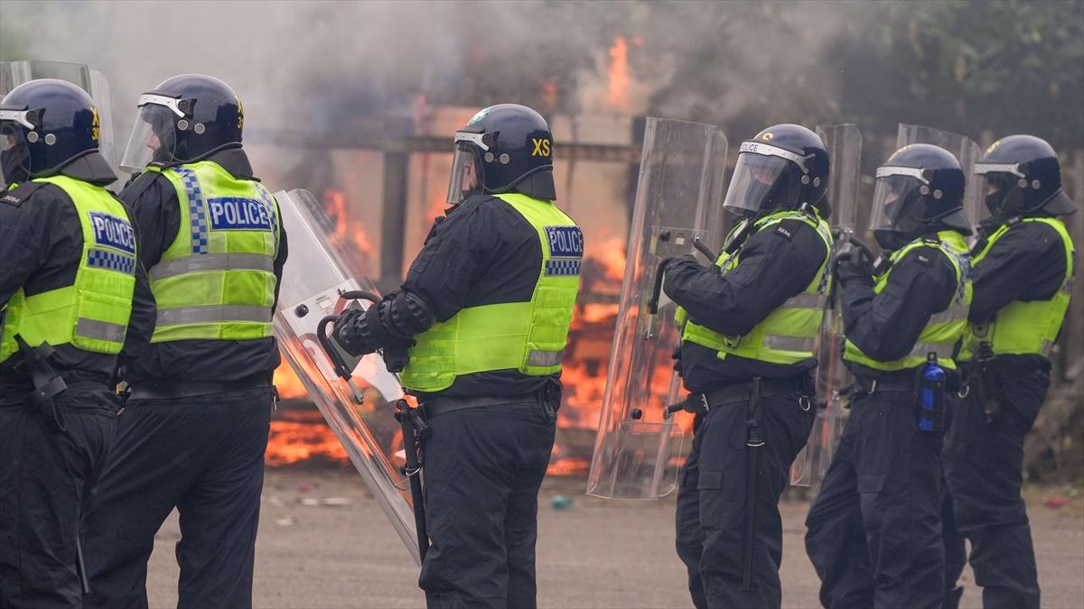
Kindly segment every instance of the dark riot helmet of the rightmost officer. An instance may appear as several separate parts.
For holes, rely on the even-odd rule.
[[[1061,190],[1061,165],[1045,140],[1009,135],[997,140],[975,164],[986,180],[986,208],[995,222],[1014,216],[1068,216],[1076,211]]]

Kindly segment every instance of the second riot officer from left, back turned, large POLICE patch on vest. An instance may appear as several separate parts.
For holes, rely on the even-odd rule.
[[[179,604],[249,607],[286,235],[242,150],[230,87],[177,76],[139,107],[121,166],[142,173],[120,196],[150,281],[137,286],[121,357],[131,394],[87,527],[87,604],[146,606],[154,534],[177,507]]]

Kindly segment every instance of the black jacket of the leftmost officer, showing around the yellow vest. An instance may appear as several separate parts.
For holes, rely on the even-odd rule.
[[[74,164],[61,173],[103,186],[116,180],[112,172],[95,172],[95,167]],[[33,296],[74,284],[81,258],[82,224],[75,204],[60,186],[25,182],[0,193],[0,304],[7,304],[20,288]],[[13,361],[0,365],[0,398],[34,389],[29,377],[11,370]],[[116,355],[70,345],[56,346],[50,361],[69,386],[75,381],[109,385],[116,362]]]

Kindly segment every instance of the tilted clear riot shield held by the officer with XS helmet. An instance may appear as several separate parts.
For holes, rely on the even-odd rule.
[[[325,316],[371,304],[340,298],[344,293],[375,295],[376,288],[339,242],[334,224],[311,193],[280,191],[274,196],[283,226],[289,231],[275,337],[403,544],[420,560],[410,484],[401,474],[405,461],[402,432],[391,405],[403,397],[402,386],[376,353],[362,358],[340,353],[352,370],[352,379],[344,380],[318,338]]]

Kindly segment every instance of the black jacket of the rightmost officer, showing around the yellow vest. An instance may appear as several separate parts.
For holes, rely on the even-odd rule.
[[[975,296],[968,315],[971,322],[993,320],[997,311],[1014,300],[1049,300],[1066,278],[1069,260],[1057,231],[1043,222],[1014,220],[1010,224],[986,256],[975,264]],[[1036,327],[1035,332],[1042,329]],[[1050,370],[1049,360],[1043,355],[1001,355],[997,359],[998,368],[1009,373]]]

